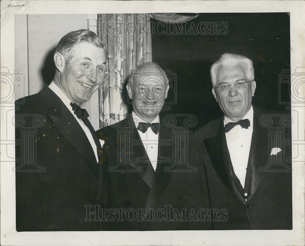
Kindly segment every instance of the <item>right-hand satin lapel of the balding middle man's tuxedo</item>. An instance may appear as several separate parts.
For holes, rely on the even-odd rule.
[[[166,171],[164,168],[171,167],[174,159],[174,148],[170,143],[160,144],[164,140],[173,139],[173,129],[167,128],[164,125],[161,126],[159,132],[159,144],[158,144],[158,162],[156,168],[155,178],[153,180],[152,188],[150,190],[145,209],[155,207],[156,203],[162,196],[166,189],[168,182],[174,171]],[[169,162],[167,162],[167,160]]]

